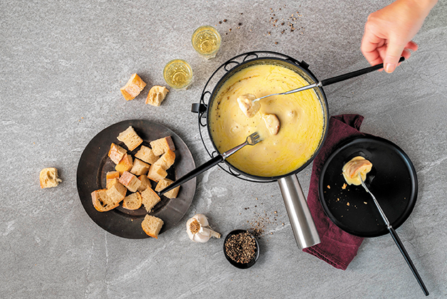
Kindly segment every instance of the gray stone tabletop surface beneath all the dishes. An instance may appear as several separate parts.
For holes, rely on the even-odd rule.
[[[190,107],[221,63],[268,50],[305,60],[320,79],[363,68],[364,22],[389,3],[1,1],[0,297],[422,298],[390,236],[365,239],[346,271],[301,252],[275,183],[251,184],[211,169],[198,178],[184,219],[158,240],[103,231],[85,213],[76,188],[84,147],[121,120],[166,125],[186,142],[196,164],[203,163],[206,151]],[[273,14],[287,19],[297,11],[298,31],[281,34],[270,23]],[[414,38],[419,51],[393,74],[325,88],[332,115],[364,115],[363,132],[395,142],[414,162],[418,201],[397,231],[431,298],[447,297],[446,13],[440,1]],[[223,37],[211,61],[190,43],[204,24]],[[144,105],[144,92],[130,102],[122,98],[120,87],[132,73],[163,85],[162,69],[173,58],[191,63],[189,90],[171,90],[161,107]],[[44,167],[57,167],[63,183],[40,189]],[[305,194],[310,173],[311,166],[298,174]],[[226,261],[222,239],[192,243],[184,229],[201,212],[226,236],[248,229],[263,211],[278,211],[277,222],[285,225],[267,225],[261,257],[245,271]]]

